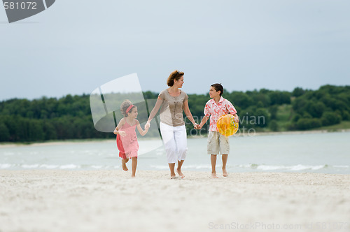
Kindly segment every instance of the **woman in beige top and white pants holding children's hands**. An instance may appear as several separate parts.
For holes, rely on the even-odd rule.
[[[183,74],[183,72],[176,70],[169,75],[167,79],[169,88],[164,89],[158,95],[155,107],[151,111],[151,115],[145,126],[145,129],[151,126],[151,120],[160,109],[160,133],[162,133],[170,168],[170,177],[172,179],[176,177],[176,161],[178,163],[176,172],[181,178],[185,177],[181,172],[181,166],[183,161],[185,161],[187,153],[187,136],[185,121],[183,120],[183,111],[190,122],[193,123],[193,126],[197,126],[190,112],[190,108],[188,108],[188,96],[181,90],[184,83]]]

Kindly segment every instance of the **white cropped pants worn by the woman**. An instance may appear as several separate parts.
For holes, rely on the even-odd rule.
[[[185,125],[169,126],[160,122],[160,133],[162,133],[168,164],[175,164],[176,161],[185,160],[187,153]]]

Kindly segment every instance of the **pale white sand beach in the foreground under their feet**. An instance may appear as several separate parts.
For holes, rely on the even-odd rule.
[[[184,174],[0,171],[0,231],[350,231],[350,175]]]

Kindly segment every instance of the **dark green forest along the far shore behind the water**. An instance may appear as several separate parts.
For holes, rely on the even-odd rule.
[[[144,99],[158,93],[144,92]],[[202,119],[209,94],[188,94],[191,113]],[[350,128],[350,86],[324,85],[317,90],[297,87],[293,92],[268,89],[226,92],[239,115],[239,128],[254,131],[300,131]],[[148,106],[150,107],[150,106]],[[149,109],[151,110],[151,109]],[[149,112],[148,112],[149,113]],[[145,122],[146,119],[139,119]],[[207,122],[208,124],[209,122]],[[187,120],[188,134],[193,128]],[[203,127],[204,132],[207,126]],[[90,95],[0,102],[0,142],[34,142],[86,138],[115,138],[94,128]]]

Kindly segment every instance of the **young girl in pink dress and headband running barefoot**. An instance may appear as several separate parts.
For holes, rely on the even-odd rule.
[[[146,135],[148,128],[142,130],[137,118],[137,107],[132,105],[129,100],[123,101],[120,106],[120,111],[123,114],[123,119],[116,129],[113,131],[117,135],[117,146],[119,157],[122,157],[123,170],[127,171],[127,161],[132,159],[132,177],[135,177],[137,167],[137,152],[139,151],[139,143],[137,143],[136,127],[141,136]]]

